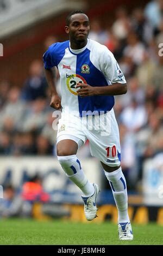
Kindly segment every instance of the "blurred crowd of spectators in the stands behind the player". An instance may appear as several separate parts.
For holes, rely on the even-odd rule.
[[[131,13],[117,8],[110,27],[103,27],[100,20],[91,20],[90,25],[89,38],[114,53],[126,76],[128,93],[115,97],[114,110],[120,127],[122,169],[132,187],[142,178],[144,161],[163,152],[163,0]],[[56,40],[47,38],[46,49]],[[56,155],[57,131],[52,128],[53,109],[41,57],[30,64],[22,88],[9,81],[0,84],[1,156]],[[89,142],[79,154],[90,156]]]

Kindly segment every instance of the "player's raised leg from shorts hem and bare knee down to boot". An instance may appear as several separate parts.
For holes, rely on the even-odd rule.
[[[70,135],[67,135],[70,138]],[[61,136],[60,136],[61,139]],[[82,169],[79,159],[76,156],[81,140],[71,135],[70,139],[60,140],[57,144],[58,160],[66,175],[83,192],[84,212],[87,221],[92,221],[96,217],[97,207],[95,204],[99,192],[97,184],[90,183]]]

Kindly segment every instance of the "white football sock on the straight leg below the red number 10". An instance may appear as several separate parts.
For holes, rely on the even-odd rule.
[[[116,171],[107,172],[104,170],[104,172],[110,183],[112,194],[117,206],[118,223],[129,222],[126,179],[123,175],[122,169],[120,167]]]

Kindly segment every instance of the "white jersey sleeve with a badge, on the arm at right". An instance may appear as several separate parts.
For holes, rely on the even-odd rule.
[[[109,51],[107,47],[104,47],[103,51],[103,72],[111,84],[115,84],[116,82],[126,84],[126,79],[124,78],[120,66],[112,52]]]

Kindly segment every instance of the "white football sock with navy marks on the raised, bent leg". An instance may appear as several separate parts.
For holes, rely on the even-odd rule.
[[[86,197],[89,197],[95,192],[95,188],[93,184],[87,180],[76,154],[72,154],[71,156],[58,156],[58,160],[68,178],[82,190]]]

